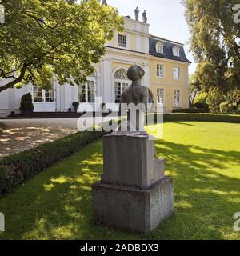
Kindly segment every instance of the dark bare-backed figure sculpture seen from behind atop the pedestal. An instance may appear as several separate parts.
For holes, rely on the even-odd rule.
[[[153,107],[154,95],[148,87],[142,86],[142,78],[144,74],[145,71],[142,67],[137,65],[131,66],[127,71],[127,76],[132,81],[132,84],[123,90],[120,108],[122,107],[122,104],[127,104],[128,106],[129,111],[126,122],[126,130],[128,132],[138,131],[146,134],[146,131],[143,128],[144,114]],[[137,111],[135,111],[136,106],[139,106]]]

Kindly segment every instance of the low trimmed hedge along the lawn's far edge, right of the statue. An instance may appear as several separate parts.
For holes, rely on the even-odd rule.
[[[154,118],[156,121],[156,117]],[[232,114],[164,114],[164,122],[232,122],[240,123],[240,115]]]

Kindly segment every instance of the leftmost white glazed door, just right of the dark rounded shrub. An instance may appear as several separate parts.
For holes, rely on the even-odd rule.
[[[55,112],[55,87],[50,90],[43,90],[38,86],[33,86],[33,103],[34,112]]]

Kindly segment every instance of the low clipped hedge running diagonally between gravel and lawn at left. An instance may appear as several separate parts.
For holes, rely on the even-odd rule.
[[[85,131],[0,159],[0,196],[106,132]]]

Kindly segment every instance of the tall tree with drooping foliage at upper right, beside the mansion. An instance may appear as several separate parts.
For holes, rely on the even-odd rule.
[[[190,26],[190,49],[203,90],[240,88],[240,26],[235,0],[183,0]]]

